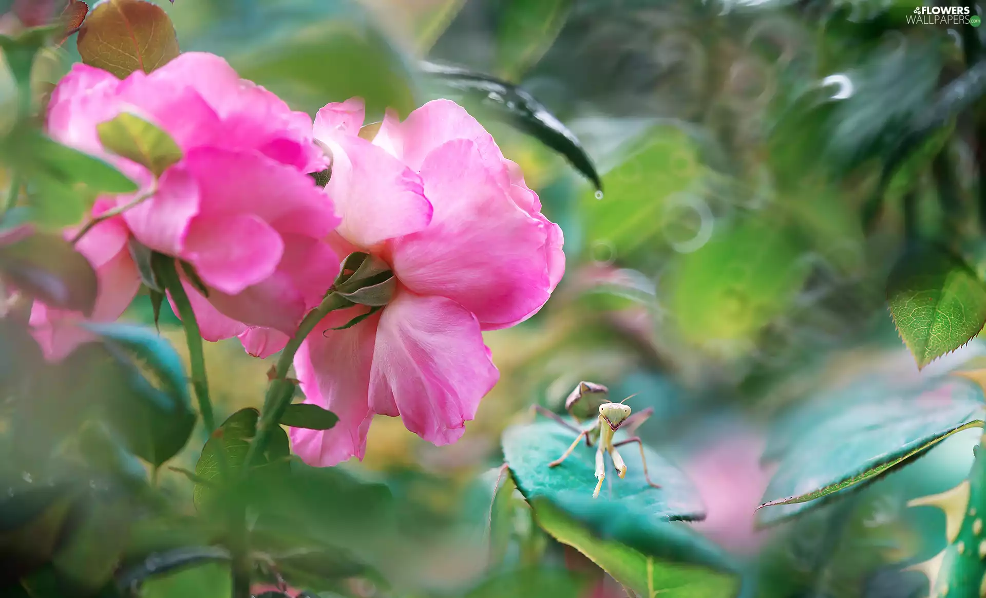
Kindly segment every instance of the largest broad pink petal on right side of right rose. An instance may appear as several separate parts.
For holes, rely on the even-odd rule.
[[[550,250],[560,243],[560,231],[512,200],[471,141],[432,152],[421,178],[435,214],[427,229],[393,243],[391,263],[401,283],[455,300],[484,330],[540,309],[556,283],[549,268],[560,277],[564,267],[557,263],[563,257]]]

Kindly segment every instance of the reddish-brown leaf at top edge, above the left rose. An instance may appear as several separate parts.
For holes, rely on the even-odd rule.
[[[144,0],[108,0],[86,19],[78,37],[82,61],[120,79],[149,73],[178,55],[175,27],[165,11]]]

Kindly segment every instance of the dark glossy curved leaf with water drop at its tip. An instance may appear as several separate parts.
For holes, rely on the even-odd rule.
[[[596,166],[575,133],[534,100],[528,92],[495,77],[472,73],[457,67],[424,62],[422,69],[434,75],[449,88],[483,103],[498,117],[558,152],[596,188],[602,188]]]

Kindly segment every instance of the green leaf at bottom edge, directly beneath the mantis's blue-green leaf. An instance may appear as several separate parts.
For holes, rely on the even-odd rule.
[[[740,588],[735,565],[682,523],[628,516],[609,505],[587,503],[579,516],[602,524],[602,535],[545,498],[532,502],[537,523],[626,587],[642,596],[731,598]],[[621,542],[632,538],[634,542]]]

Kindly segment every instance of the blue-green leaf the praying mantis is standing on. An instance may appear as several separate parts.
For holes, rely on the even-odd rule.
[[[618,431],[616,441],[622,437]],[[575,440],[575,432],[554,421],[539,421],[507,429],[503,451],[514,480],[528,500],[544,496],[560,506],[592,500],[596,487],[596,449],[580,442],[564,463],[555,468],[548,464],[561,457]],[[626,462],[626,477],[620,480],[607,465],[609,473],[602,485],[599,504],[618,509],[641,520],[702,519],[705,508],[698,491],[684,474],[650,448],[645,449],[647,467],[655,488],[644,479],[640,448],[629,444],[619,448]],[[608,457],[607,464],[609,463]]]

